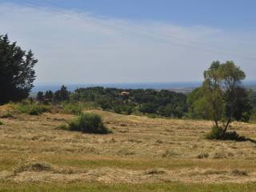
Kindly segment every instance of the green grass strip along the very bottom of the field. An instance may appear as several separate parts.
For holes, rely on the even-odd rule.
[[[31,184],[17,184],[17,183],[2,183],[0,184],[0,192],[31,192],[31,191],[51,191],[51,192],[145,192],[145,191],[169,191],[169,192],[251,192],[256,188],[256,183],[244,183],[244,184],[190,184],[179,182],[167,182],[167,183],[146,183],[146,184],[103,184],[100,182],[88,182],[88,183],[31,183]]]

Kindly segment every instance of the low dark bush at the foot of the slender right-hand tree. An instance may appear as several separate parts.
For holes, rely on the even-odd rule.
[[[223,133],[222,128],[218,128],[216,126],[213,126],[210,133],[206,135],[206,138],[208,139],[218,139],[218,140],[232,140],[237,142],[245,142],[248,139],[240,136],[235,131],[228,131],[226,133]]]

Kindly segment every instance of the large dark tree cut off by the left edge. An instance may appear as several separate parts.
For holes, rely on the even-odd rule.
[[[35,79],[34,59],[31,50],[22,50],[11,43],[6,35],[0,35],[0,104],[27,98]]]

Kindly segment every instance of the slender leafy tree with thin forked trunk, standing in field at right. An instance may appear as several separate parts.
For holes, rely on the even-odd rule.
[[[246,74],[234,62],[217,61],[204,72],[204,78],[202,90],[206,102],[210,104],[211,118],[215,126],[225,134],[230,123],[242,118],[244,110],[250,108],[246,106],[249,105],[248,95],[242,88]]]

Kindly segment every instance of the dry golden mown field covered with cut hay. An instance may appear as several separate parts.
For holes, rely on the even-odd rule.
[[[212,122],[87,112],[113,134],[58,130],[67,114],[0,118],[0,191],[256,191],[256,144],[206,140]]]

